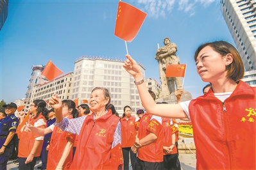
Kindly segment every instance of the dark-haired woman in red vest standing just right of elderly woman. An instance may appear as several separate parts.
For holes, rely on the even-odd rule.
[[[131,116],[132,108],[129,105],[124,106],[124,114],[121,119],[122,130],[122,151],[124,158],[124,170],[129,170],[129,162],[131,160],[132,169],[135,169],[136,153],[133,153],[131,147],[135,142],[137,131],[135,128],[135,118]],[[129,158],[130,153],[130,158]]]

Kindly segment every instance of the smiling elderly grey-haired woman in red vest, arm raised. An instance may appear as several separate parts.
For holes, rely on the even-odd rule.
[[[62,130],[78,134],[78,144],[71,169],[121,169],[120,118],[106,106],[110,104],[107,88],[94,88],[90,95],[92,114],[68,120],[62,116],[62,101],[53,95],[49,104],[55,109],[56,125]]]

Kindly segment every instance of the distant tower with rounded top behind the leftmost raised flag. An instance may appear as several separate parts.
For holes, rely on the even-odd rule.
[[[30,77],[30,83],[28,84],[28,90],[26,92],[26,98],[25,100],[30,100],[31,93],[33,91],[33,88],[36,84],[43,84],[47,81],[46,77],[41,75],[42,71],[44,70],[44,65],[33,65],[31,67],[32,73]]]

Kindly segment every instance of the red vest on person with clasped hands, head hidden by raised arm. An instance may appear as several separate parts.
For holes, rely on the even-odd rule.
[[[152,115],[145,113],[139,123],[138,138],[142,139],[150,132],[157,135],[157,140],[147,146],[139,148],[138,158],[147,162],[163,162],[163,143],[164,132],[162,125],[155,119],[151,120]]]

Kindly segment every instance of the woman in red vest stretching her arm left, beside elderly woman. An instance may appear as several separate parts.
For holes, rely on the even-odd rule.
[[[72,119],[73,116],[78,115],[76,104],[72,100],[63,100],[62,104],[62,114],[65,118]],[[69,169],[73,160],[73,143],[76,135],[64,132],[54,124],[44,129],[30,125],[26,130],[32,130],[41,135],[53,132],[49,143],[46,169]]]

